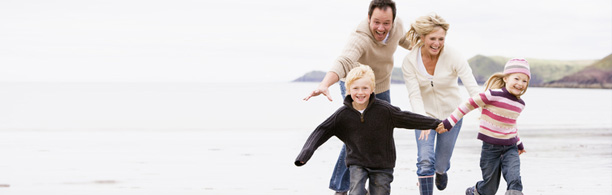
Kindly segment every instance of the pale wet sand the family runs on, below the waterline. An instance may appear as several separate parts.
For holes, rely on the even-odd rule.
[[[554,131],[554,132],[553,132]],[[5,131],[0,194],[332,194],[332,138],[304,167],[293,160],[310,130]],[[480,141],[461,132],[449,185],[462,194],[480,179]],[[524,130],[525,194],[612,193],[612,129]],[[392,194],[417,194],[412,131],[395,133]],[[497,194],[503,194],[502,182]]]

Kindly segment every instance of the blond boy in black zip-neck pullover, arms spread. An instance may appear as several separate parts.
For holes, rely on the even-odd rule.
[[[344,99],[344,106],[312,132],[295,160],[296,166],[304,165],[331,136],[338,137],[346,145],[351,195],[366,194],[367,179],[371,195],[390,194],[396,159],[394,128],[444,130],[438,119],[401,111],[376,99],[374,79],[369,66],[361,65],[348,73],[350,96]]]

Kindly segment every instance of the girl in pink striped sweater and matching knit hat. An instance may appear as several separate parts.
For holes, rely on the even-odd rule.
[[[525,59],[509,60],[503,73],[496,73],[485,83],[485,92],[474,96],[444,120],[444,128],[451,129],[465,114],[482,108],[478,139],[482,140],[480,169],[482,181],[469,187],[466,195],[495,194],[500,173],[508,188],[506,195],[523,194],[519,155],[525,153],[518,136],[516,119],[525,108],[521,95],[525,94],[531,74]]]

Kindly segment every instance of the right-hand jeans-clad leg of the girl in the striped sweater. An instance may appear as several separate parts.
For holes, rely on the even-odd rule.
[[[516,145],[509,146],[502,155],[502,174],[508,184],[506,194],[522,194],[523,183],[521,182],[521,159],[519,158]]]

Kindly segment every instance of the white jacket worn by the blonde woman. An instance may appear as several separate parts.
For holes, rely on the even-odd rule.
[[[444,46],[431,81],[419,72],[418,54],[419,48],[414,48],[406,55],[402,64],[413,112],[438,119],[448,117],[463,102],[457,78],[461,78],[470,97],[481,92],[472,74],[472,68],[456,50]]]

